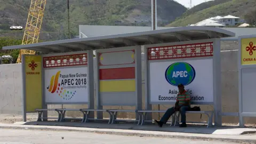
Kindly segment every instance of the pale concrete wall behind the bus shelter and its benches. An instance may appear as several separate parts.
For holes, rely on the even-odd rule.
[[[224,44],[224,43],[223,43]],[[233,44],[227,42],[226,44]],[[237,46],[237,45],[236,45]],[[235,46],[234,46],[235,47]],[[237,50],[221,52],[221,85],[222,85],[222,112],[238,112],[238,69],[237,69]],[[142,62],[142,79],[144,80],[144,65]],[[0,65],[0,113],[21,114],[21,65]],[[145,84],[142,81],[142,97],[145,101]],[[49,108],[87,108],[86,105],[49,105]],[[144,106],[143,106],[144,107]],[[159,109],[165,110],[171,105],[161,105]],[[202,110],[213,110],[213,106],[200,106]],[[134,109],[129,106],[105,106],[106,109]],[[153,109],[157,110],[158,105]],[[51,115],[55,114],[53,111]],[[68,112],[68,116],[82,116],[79,112]],[[153,114],[154,119],[163,114]],[[108,117],[108,114],[104,115]],[[132,113],[119,113],[119,118],[134,118]],[[206,121],[206,116],[188,114],[189,121]],[[246,118],[246,123],[255,123],[255,118]],[[223,123],[238,123],[238,117],[223,116]]]

